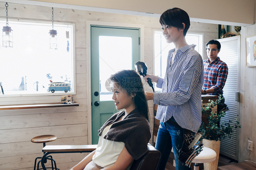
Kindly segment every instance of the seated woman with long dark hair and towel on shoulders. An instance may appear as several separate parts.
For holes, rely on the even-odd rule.
[[[122,70],[110,77],[116,109],[99,130],[99,143],[71,170],[129,169],[147,151],[151,138],[149,109],[140,75]]]

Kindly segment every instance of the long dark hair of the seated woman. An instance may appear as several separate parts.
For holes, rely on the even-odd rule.
[[[133,95],[135,108],[149,121],[149,107],[143,83],[135,70],[121,70],[111,75],[110,83],[117,83],[128,95]]]

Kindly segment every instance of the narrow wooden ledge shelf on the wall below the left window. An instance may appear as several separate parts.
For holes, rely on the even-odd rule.
[[[43,104],[14,104],[14,105],[2,105],[0,110],[15,110],[15,109],[37,109],[37,108],[51,108],[51,107],[71,107],[79,106],[77,102],[72,104],[63,103],[43,103]]]

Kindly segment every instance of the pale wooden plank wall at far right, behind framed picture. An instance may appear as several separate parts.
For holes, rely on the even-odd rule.
[[[245,38],[255,34],[256,24],[241,29],[239,162],[256,162],[256,67],[246,67],[245,51]],[[248,140],[253,142],[252,151],[247,150]]]

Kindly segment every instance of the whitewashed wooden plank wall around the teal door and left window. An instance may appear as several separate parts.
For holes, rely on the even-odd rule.
[[[42,20],[51,23],[51,8],[43,6],[8,3],[9,19]],[[0,2],[0,11],[5,11],[5,2]],[[0,14],[5,18],[5,14]],[[148,73],[153,73],[153,29],[160,29],[159,19],[132,15],[121,15],[103,12],[91,12],[72,9],[54,8],[55,22],[75,23],[75,53],[76,53],[76,95],[74,101],[79,107],[21,109],[0,111],[0,169],[32,170],[34,160],[42,156],[43,144],[30,142],[32,137],[53,134],[57,140],[47,143],[58,144],[89,144],[88,141],[88,110],[87,66],[86,60],[86,21],[105,21],[115,23],[130,23],[144,25],[144,61]],[[206,23],[191,23],[190,31],[203,32],[204,41],[218,37],[218,25]],[[1,56],[1,55],[0,55]],[[0,97],[0,105],[31,104],[60,102],[60,96],[21,96]],[[149,101],[151,123],[153,123],[153,104]],[[153,128],[153,124],[152,124]],[[55,154],[59,169],[70,169],[86,153]]]

